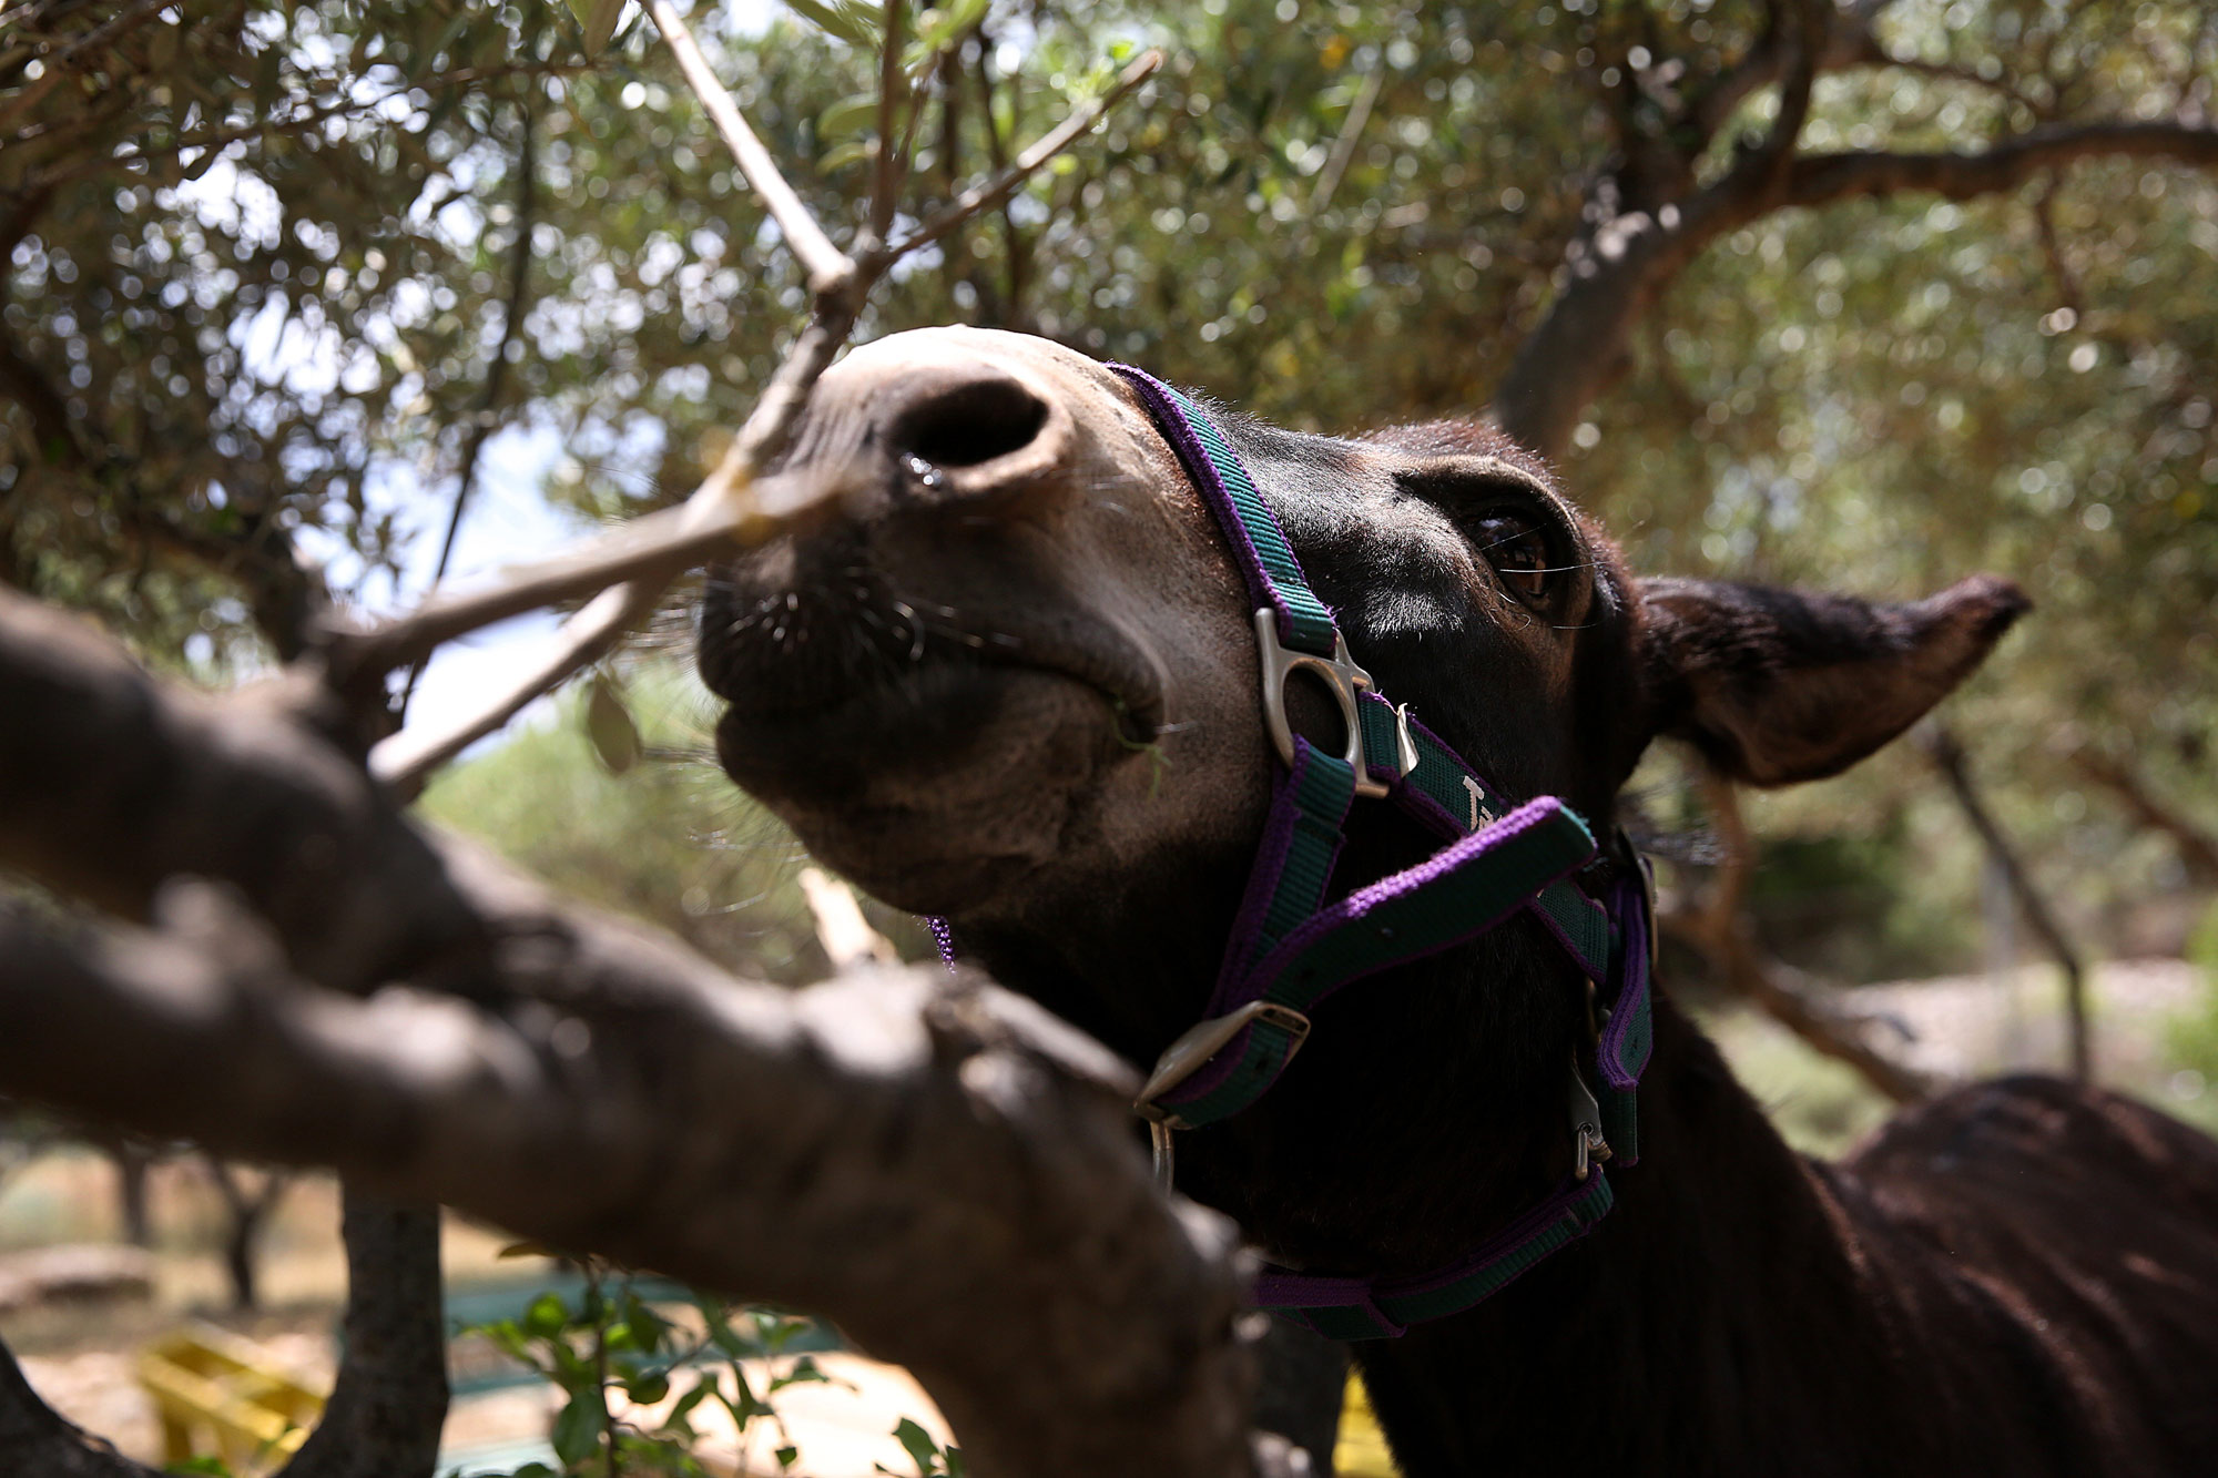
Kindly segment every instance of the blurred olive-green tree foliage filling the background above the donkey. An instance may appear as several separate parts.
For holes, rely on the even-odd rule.
[[[827,220],[869,166],[865,11],[694,16]],[[943,193],[1100,58],[1173,60],[865,337],[1027,328],[1331,431],[1502,395],[1637,568],[2012,575],[2038,615],[1956,726],[2076,928],[2180,948],[2218,881],[2207,7],[949,0],[920,24]],[[681,495],[805,293],[632,7],[11,4],[0,246],[0,579],[211,677],[286,650],[317,579],[346,597],[435,541],[495,428],[559,444],[563,506]],[[1644,788],[1699,823],[1670,763]],[[1976,956],[1978,850],[1914,750],[1752,819],[1774,950],[1845,979]]]

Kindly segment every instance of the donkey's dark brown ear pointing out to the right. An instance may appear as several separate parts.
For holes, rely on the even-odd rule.
[[[1639,584],[1650,732],[1785,786],[1845,770],[1972,675],[2032,601],[1974,575],[1888,606],[1706,579]]]

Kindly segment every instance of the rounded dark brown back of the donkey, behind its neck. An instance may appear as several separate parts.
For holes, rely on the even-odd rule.
[[[1899,1116],[1837,1190],[1963,1471],[2218,1471],[2218,1141],[2016,1076]]]

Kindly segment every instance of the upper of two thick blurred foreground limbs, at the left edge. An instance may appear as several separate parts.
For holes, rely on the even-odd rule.
[[[222,879],[333,990],[466,954],[472,910],[302,719],[315,692],[157,686],[87,621],[0,593],[0,865],[133,919],[173,874]]]

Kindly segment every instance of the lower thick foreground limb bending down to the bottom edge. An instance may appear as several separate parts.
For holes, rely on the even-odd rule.
[[[541,1005],[355,1001],[215,968],[197,908],[0,914],[0,1083],[825,1312],[978,1474],[1244,1471],[1229,1227],[1153,1194],[1129,1072],[1038,1008],[938,968],[743,985],[535,905],[484,992]]]

